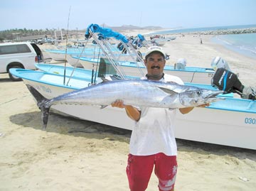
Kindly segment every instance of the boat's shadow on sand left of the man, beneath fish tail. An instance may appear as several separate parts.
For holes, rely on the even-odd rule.
[[[10,116],[10,121],[19,126],[44,131],[42,129],[40,111],[15,114]],[[53,112],[50,112],[46,131],[71,136],[82,136],[85,138],[107,138],[111,134],[111,136],[118,136],[117,139],[119,141],[124,139],[126,142],[132,133],[132,131],[127,129],[119,129],[93,121],[85,121],[71,116],[55,114]]]

